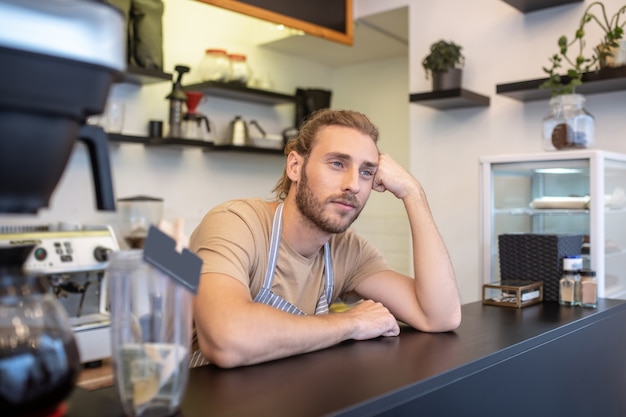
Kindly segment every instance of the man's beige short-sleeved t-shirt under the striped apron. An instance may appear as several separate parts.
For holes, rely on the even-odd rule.
[[[277,203],[233,200],[213,208],[190,238],[202,258],[202,273],[231,276],[250,288],[254,298],[268,264],[272,221]],[[334,271],[333,297],[341,297],[370,275],[389,270],[382,254],[353,230],[330,239]],[[272,291],[307,314],[324,291],[324,248],[307,258],[281,240]]]

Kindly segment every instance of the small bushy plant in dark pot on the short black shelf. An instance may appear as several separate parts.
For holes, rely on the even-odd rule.
[[[450,41],[439,40],[430,46],[430,53],[422,61],[426,79],[431,75],[433,90],[461,87],[462,68],[465,57],[462,47]]]

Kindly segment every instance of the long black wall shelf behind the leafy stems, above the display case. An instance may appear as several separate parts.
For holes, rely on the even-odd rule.
[[[547,78],[498,84],[496,93],[520,101],[547,100],[550,98],[550,90],[539,88],[545,80]],[[584,95],[621,90],[626,90],[626,66],[587,72],[583,74],[583,84],[576,87],[576,93]]]

